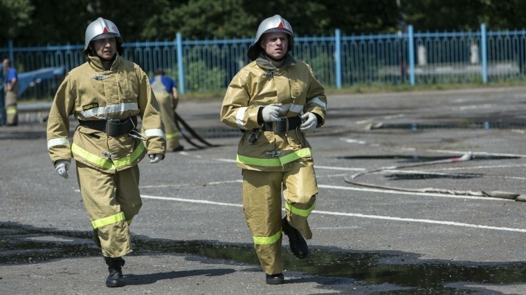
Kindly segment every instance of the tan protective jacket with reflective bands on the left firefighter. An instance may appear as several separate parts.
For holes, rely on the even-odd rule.
[[[165,153],[163,122],[146,73],[117,55],[109,70],[98,57],[71,70],[57,90],[48,117],[48,152],[57,160],[82,162],[115,173],[136,165],[145,153]],[[140,115],[147,140],[127,134],[109,136],[79,125],[69,142],[69,116],[77,120],[127,120]]]

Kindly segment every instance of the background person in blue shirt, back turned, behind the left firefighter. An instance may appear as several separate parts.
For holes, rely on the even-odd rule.
[[[152,85],[152,91],[154,91],[161,111],[161,117],[163,117],[166,133],[166,150],[183,151],[184,146],[179,144],[181,133],[179,133],[176,127],[174,117],[174,111],[179,102],[177,84],[174,79],[168,77],[162,69],[156,70],[154,77],[149,80],[149,84]]]

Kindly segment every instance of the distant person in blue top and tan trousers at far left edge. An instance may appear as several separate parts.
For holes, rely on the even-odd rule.
[[[6,93],[6,124],[8,126],[18,125],[18,73],[11,66],[10,59],[3,59],[3,72],[6,76],[4,91]]]

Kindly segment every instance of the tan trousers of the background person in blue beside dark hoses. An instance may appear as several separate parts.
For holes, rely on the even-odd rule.
[[[161,111],[161,117],[165,125],[166,133],[166,149],[167,151],[174,151],[179,146],[179,130],[175,126],[174,117],[174,100],[171,93],[155,92],[155,98],[159,104],[159,110]]]

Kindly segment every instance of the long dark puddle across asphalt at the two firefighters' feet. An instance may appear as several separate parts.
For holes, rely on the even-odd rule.
[[[100,256],[100,249],[91,240],[91,231],[56,231],[14,222],[0,222],[0,237],[0,265]],[[248,244],[161,240],[145,236],[133,236],[133,244],[134,252],[130,256],[187,254],[259,267],[253,245]],[[526,263],[453,263],[450,260],[409,263],[406,258],[414,256],[411,260],[416,259],[417,254],[399,251],[393,251],[392,254],[385,251],[332,251],[333,249],[314,247],[304,260],[294,258],[288,249],[284,249],[284,268],[311,276],[343,279],[343,283],[335,285],[347,283],[363,287],[389,284],[399,289],[394,292],[391,290],[388,294],[471,294],[480,291],[480,286],[471,289],[466,285],[526,283]],[[334,280],[328,281],[327,285],[335,283]],[[324,281],[320,280],[319,283],[323,284]],[[451,285],[462,286],[448,287]]]

